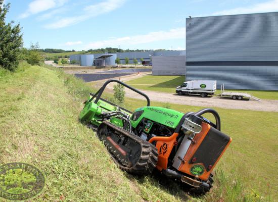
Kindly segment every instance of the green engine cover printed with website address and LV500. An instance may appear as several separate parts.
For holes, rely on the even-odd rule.
[[[143,107],[138,108],[135,110],[136,112],[141,112],[142,115],[137,118],[135,121],[131,119],[131,125],[132,127],[137,127],[137,125],[141,122],[143,118],[152,120],[154,122],[160,123],[162,125],[168,126],[170,128],[176,128],[180,119],[184,115],[181,112],[177,112],[175,110],[166,109],[162,107]]]

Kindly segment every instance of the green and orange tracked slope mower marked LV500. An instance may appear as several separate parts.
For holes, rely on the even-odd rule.
[[[147,105],[130,112],[102,98],[111,82],[144,96]],[[118,80],[105,82],[84,104],[80,121],[97,131],[120,169],[140,175],[157,169],[197,194],[212,187],[211,172],[231,142],[220,132],[220,117],[215,110],[184,114],[152,107],[145,93]],[[215,117],[215,123],[204,118],[206,113]]]

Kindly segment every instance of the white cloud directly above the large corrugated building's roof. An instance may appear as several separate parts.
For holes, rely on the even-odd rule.
[[[246,13],[264,13],[278,11],[278,0],[272,0],[264,3],[254,4],[248,7],[239,7],[235,9],[223,10],[212,15],[234,15]]]

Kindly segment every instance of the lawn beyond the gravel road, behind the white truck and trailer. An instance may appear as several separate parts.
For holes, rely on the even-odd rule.
[[[160,92],[175,93],[175,88],[185,81],[184,76],[144,76],[130,80],[127,83],[133,87]],[[261,99],[278,99],[278,91],[260,90],[226,90],[234,92],[247,92]],[[216,91],[219,94],[220,90]]]

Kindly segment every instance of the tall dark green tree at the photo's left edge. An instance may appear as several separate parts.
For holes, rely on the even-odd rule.
[[[20,61],[23,39],[19,24],[13,26],[12,21],[6,25],[5,19],[9,9],[10,4],[4,5],[4,0],[0,0],[0,66],[14,71]]]

